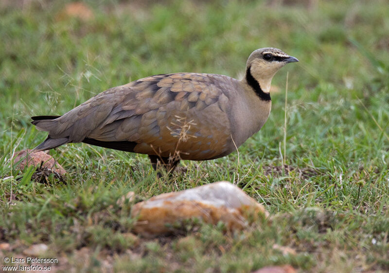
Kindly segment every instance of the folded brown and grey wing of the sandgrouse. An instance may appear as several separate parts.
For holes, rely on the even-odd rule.
[[[54,119],[50,130],[40,129],[52,138],[69,137],[69,142],[129,141],[136,153],[216,158],[230,153],[229,99],[224,92],[231,81],[236,80],[197,73],[143,78],[110,88]]]

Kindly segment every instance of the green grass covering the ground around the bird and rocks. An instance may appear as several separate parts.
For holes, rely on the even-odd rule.
[[[44,243],[59,272],[389,271],[386,1],[86,1],[89,19],[59,16],[64,1],[18,2],[0,4],[0,243],[10,244],[1,265]],[[273,79],[272,113],[239,158],[183,161],[187,173],[158,180],[144,155],[68,144],[50,152],[65,183],[45,184],[13,165],[15,152],[46,137],[31,116],[63,114],[152,74],[239,77],[250,52],[266,46],[300,63]],[[272,220],[241,234],[201,225],[142,239],[130,233],[131,204],[117,203],[128,191],[141,200],[220,180],[237,183]]]

